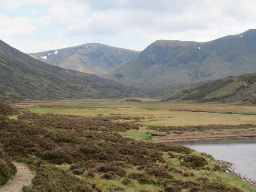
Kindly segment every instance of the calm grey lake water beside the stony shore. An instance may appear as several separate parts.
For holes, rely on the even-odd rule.
[[[229,161],[234,164],[236,173],[256,180],[256,138],[178,141],[175,144],[211,154],[218,160]]]

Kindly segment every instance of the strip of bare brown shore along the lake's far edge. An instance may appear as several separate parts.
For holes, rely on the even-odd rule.
[[[212,133],[205,132],[186,132],[182,134],[170,133],[166,136],[153,136],[153,141],[168,142],[180,140],[197,140],[197,139],[214,139],[214,138],[235,138],[235,137],[256,137],[256,131],[236,132],[230,133],[225,131],[212,131]]]

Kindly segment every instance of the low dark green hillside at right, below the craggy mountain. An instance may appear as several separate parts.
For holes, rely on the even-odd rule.
[[[155,93],[163,100],[256,104],[256,73],[204,81]]]

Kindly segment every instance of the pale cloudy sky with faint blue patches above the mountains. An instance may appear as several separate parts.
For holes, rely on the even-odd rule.
[[[254,0],[0,0],[0,39],[24,53],[85,43],[142,51],[256,28]]]

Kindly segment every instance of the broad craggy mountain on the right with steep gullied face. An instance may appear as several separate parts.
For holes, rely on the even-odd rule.
[[[105,78],[137,87],[173,87],[256,72],[256,29],[209,42],[157,40]]]

